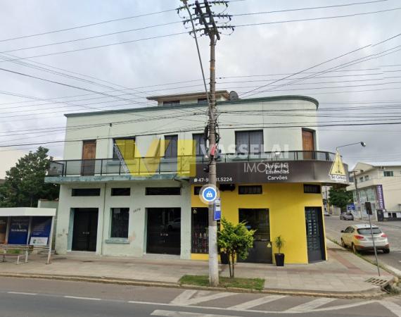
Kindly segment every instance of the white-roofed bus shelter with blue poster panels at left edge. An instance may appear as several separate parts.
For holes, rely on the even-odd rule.
[[[26,254],[35,248],[46,249],[46,263],[49,264],[55,218],[56,209],[0,208],[0,249],[15,246],[15,249],[25,250]]]

